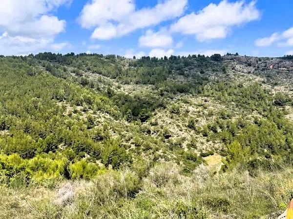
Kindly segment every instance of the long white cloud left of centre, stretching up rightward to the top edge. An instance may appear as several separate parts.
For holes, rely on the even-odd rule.
[[[84,6],[79,21],[84,28],[96,27],[92,38],[110,39],[176,18],[182,15],[187,2],[165,0],[152,8],[136,10],[134,0],[91,0]]]

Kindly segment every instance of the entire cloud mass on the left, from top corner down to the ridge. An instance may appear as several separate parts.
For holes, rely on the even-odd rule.
[[[1,54],[28,54],[42,49],[60,49],[54,38],[65,30],[65,20],[51,12],[72,0],[2,0],[0,7]]]

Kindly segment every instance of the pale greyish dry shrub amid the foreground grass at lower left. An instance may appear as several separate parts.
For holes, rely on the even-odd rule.
[[[58,189],[54,202],[57,205],[65,206],[73,200],[74,192],[71,183],[65,183]]]

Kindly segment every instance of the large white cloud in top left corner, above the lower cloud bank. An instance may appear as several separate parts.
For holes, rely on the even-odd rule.
[[[48,16],[71,0],[2,0],[0,26],[10,35],[54,36],[65,28],[65,21]]]

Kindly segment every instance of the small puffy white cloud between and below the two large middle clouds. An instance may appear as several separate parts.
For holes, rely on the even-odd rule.
[[[157,32],[151,30],[146,31],[146,35],[139,38],[140,46],[145,47],[167,47],[172,45],[173,39],[168,33]]]

